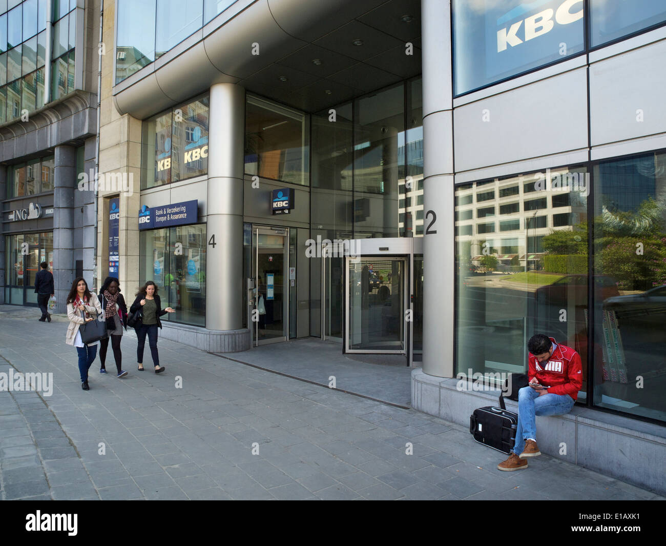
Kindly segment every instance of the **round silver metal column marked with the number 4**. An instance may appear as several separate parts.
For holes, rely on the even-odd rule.
[[[242,328],[245,90],[210,87],[206,196],[206,328]],[[206,241],[206,242],[208,242]]]

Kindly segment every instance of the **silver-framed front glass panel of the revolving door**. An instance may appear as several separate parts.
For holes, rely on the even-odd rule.
[[[406,287],[404,258],[347,258],[346,351],[406,354]]]

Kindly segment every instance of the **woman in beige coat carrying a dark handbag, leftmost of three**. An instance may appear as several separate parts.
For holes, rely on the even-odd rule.
[[[81,316],[81,311],[84,311],[83,315],[85,319]],[[83,277],[74,279],[69,295],[67,295],[69,327],[67,328],[65,343],[67,345],[74,345],[77,348],[77,353],[79,353],[81,389],[84,391],[90,389],[88,385],[88,370],[95,360],[95,356],[97,356],[97,343],[89,343],[88,345],[83,343],[79,327],[84,323],[94,321],[97,314],[101,313],[102,306],[99,304],[99,299],[88,290],[88,284],[85,279]]]

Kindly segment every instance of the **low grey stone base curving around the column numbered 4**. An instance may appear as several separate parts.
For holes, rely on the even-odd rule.
[[[207,330],[198,326],[162,322],[159,336],[207,353],[238,353],[250,349],[250,330]]]

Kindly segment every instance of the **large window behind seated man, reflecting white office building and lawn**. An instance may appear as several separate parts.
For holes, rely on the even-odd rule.
[[[585,176],[585,169],[571,171]],[[557,172],[565,174],[569,169]],[[527,177],[537,178],[535,175]],[[542,181],[543,177],[541,173]],[[524,178],[516,175],[510,179],[511,184],[509,180],[503,182],[507,183],[506,187],[519,187]],[[456,188],[456,194],[468,192],[468,187]],[[476,191],[476,185],[472,189]],[[546,202],[552,195],[569,192],[568,188],[537,191],[543,195],[539,199]],[[579,351],[585,370],[585,193],[582,199],[575,202],[578,204],[569,207],[571,210],[568,213],[577,219],[577,223],[555,230],[545,226],[541,221],[545,218],[543,215],[535,218],[533,211],[530,212],[527,207],[521,212],[520,202],[500,205],[499,231],[495,233],[495,223],[486,222],[484,218],[474,222],[475,230],[469,229],[471,225],[458,229],[458,372],[464,371],[467,375],[468,369],[472,368],[473,373],[482,374],[524,373],[527,370],[527,340],[533,333],[541,332],[554,337],[557,343]],[[460,205],[456,211],[460,211]],[[570,284],[555,284],[567,276],[572,279]],[[566,322],[559,320],[561,309],[567,312]]]

